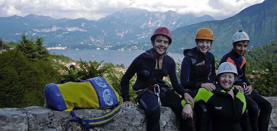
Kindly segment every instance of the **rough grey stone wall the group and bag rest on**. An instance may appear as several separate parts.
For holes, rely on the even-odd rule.
[[[269,131],[277,130],[277,97],[265,97],[272,103],[273,109],[269,121]],[[146,130],[144,111],[137,107],[124,107],[119,115],[111,122],[90,130]],[[81,109],[74,110],[78,117],[95,117],[109,111],[109,109]],[[26,108],[1,108],[0,130],[66,130],[66,123],[72,116],[70,112],[55,111],[50,108],[31,106]],[[161,107],[161,130],[178,130],[175,114],[168,107]],[[77,122],[70,122],[68,130],[85,130]]]

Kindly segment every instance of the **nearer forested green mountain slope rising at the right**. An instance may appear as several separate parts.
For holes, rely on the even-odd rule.
[[[173,44],[169,49],[182,51],[195,47],[195,33],[202,27],[207,27],[214,33],[212,51],[229,51],[232,48],[232,36],[238,30],[248,34],[248,49],[265,45],[277,40],[277,1],[265,0],[224,20],[204,21],[179,27],[172,32]]]

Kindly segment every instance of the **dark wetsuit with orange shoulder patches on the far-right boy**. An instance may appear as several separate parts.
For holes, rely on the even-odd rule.
[[[246,59],[243,56],[237,54],[237,52],[232,49],[229,53],[225,54],[219,64],[223,62],[231,62],[237,67],[237,80],[234,85],[240,85],[243,87],[242,83],[246,83],[247,86],[250,85],[250,82],[246,78],[245,68],[246,68]],[[256,91],[252,91],[250,98],[246,99],[247,101],[247,110],[250,117],[250,123],[253,131],[267,131],[269,125],[270,114],[272,110],[272,105]],[[253,101],[254,100],[254,101]],[[258,107],[259,106],[259,107]],[[259,113],[259,108],[260,113]],[[259,113],[259,118],[258,118]]]

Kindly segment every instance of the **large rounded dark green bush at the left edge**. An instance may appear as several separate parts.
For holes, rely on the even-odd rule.
[[[44,106],[44,87],[59,80],[49,61],[30,60],[19,49],[0,54],[0,108]]]

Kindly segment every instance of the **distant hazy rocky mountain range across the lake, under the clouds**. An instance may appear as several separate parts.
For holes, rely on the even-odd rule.
[[[163,19],[160,19],[163,18]],[[150,12],[138,8],[125,8],[98,21],[79,19],[54,19],[49,16],[29,14],[25,17],[0,17],[0,37],[4,41],[20,40],[24,32],[29,37],[43,37],[47,47],[119,45],[149,41],[152,32],[160,26],[171,30],[201,21],[214,20],[212,16],[195,17],[190,14]]]

